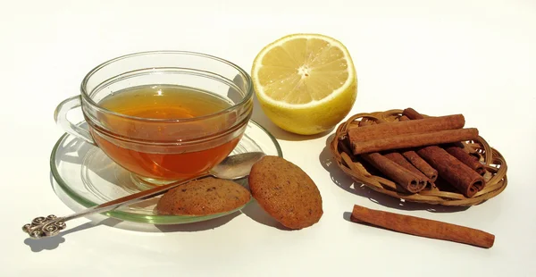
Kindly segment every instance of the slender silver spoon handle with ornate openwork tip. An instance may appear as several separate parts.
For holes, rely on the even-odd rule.
[[[39,216],[39,217],[34,218],[34,220],[32,220],[31,223],[28,223],[22,226],[22,231],[28,233],[29,237],[32,239],[54,237],[55,235],[60,233],[60,231],[66,228],[65,222],[70,221],[71,219],[79,218],[81,216],[85,216],[88,214],[104,213],[104,212],[116,209],[120,206],[129,206],[129,205],[141,202],[143,200],[146,200],[148,198],[159,196],[170,189],[176,188],[184,183],[187,183],[188,181],[197,180],[197,179],[205,178],[208,176],[212,176],[212,174],[204,173],[204,174],[189,178],[187,180],[180,180],[180,181],[169,183],[167,185],[155,187],[153,189],[143,190],[143,191],[137,192],[135,194],[131,194],[126,197],[117,198],[115,200],[103,203],[101,205],[92,206],[88,209],[80,211],[79,213],[67,215],[64,217],[57,217],[54,214],[50,214],[46,217]]]

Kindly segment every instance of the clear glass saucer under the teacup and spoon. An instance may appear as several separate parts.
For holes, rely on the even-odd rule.
[[[262,151],[266,155],[282,156],[281,147],[272,134],[258,123],[250,121],[243,138],[231,155],[257,151]],[[55,144],[50,156],[50,168],[54,180],[65,193],[86,207],[96,206],[140,190],[130,179],[130,172],[115,164],[100,148],[70,134],[64,134]],[[237,182],[247,186],[247,178]],[[129,222],[180,224],[214,219],[232,214],[244,207],[206,216],[158,215],[154,211],[158,198],[121,207],[105,215]]]

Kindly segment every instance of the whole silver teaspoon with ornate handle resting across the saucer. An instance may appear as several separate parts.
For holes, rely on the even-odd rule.
[[[197,175],[187,180],[172,182],[167,185],[159,186],[153,189],[147,189],[138,193],[117,198],[115,200],[103,203],[101,205],[92,206],[86,210],[76,214],[57,217],[54,214],[46,217],[39,216],[34,218],[31,223],[22,226],[22,231],[29,234],[32,239],[41,239],[53,237],[66,228],[65,222],[71,219],[79,218],[88,214],[104,213],[121,206],[129,206],[151,197],[159,196],[166,191],[176,188],[188,181],[197,180],[209,176],[213,176],[226,180],[239,180],[246,177],[251,172],[251,167],[264,156],[262,152],[250,152],[239,155],[230,155],[221,164],[214,166],[209,172]]]

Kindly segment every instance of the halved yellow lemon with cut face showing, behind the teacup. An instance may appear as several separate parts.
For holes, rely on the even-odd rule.
[[[294,34],[265,46],[251,77],[266,116],[301,135],[331,129],[356,102],[356,69],[348,49],[324,35]]]

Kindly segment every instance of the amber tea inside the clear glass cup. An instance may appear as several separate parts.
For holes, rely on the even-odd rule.
[[[129,88],[105,97],[98,103],[115,113],[147,119],[187,119],[220,112],[231,103],[207,92],[180,86],[144,86]],[[221,119],[220,119],[221,118]],[[119,116],[105,115],[99,119],[106,130],[116,132],[118,137],[143,139],[144,141],[176,141],[188,136],[199,135],[224,125],[229,117],[217,117],[210,122],[196,122],[196,125],[180,125],[173,122],[140,123]],[[218,122],[220,121],[220,122]],[[210,124],[204,126],[203,124]],[[180,128],[174,130],[173,128]],[[215,142],[216,145],[200,147],[188,151],[168,151],[167,149],[147,151],[137,147],[126,147],[121,139],[105,139],[92,131],[96,144],[117,164],[121,164],[138,176],[156,180],[180,180],[205,172],[219,164],[236,147],[240,138]],[[216,140],[214,140],[216,141]],[[151,149],[155,149],[152,147]]]

